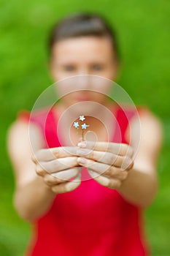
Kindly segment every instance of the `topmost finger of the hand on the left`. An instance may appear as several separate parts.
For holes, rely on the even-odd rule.
[[[77,147],[42,148],[34,154],[33,161],[47,162],[53,159],[75,156]]]

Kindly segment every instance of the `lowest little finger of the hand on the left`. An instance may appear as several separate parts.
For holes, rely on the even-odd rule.
[[[53,192],[61,194],[66,192],[71,192],[72,190],[79,187],[81,184],[81,174],[79,173],[74,181],[66,181],[64,184],[58,184],[52,187]]]

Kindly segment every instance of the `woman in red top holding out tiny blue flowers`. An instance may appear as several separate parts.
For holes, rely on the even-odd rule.
[[[73,15],[53,28],[50,72],[55,81],[74,75],[115,80],[119,64],[115,34],[98,15]],[[74,145],[66,144],[69,151],[65,150],[54,129],[65,110],[87,100],[112,108],[104,94],[80,91],[76,95],[62,97],[50,111],[46,135],[41,126],[43,115],[38,113],[31,119],[36,151],[33,161],[28,138],[29,114],[20,115],[9,129],[9,154],[16,177],[15,208],[34,227],[27,255],[149,255],[142,209],[152,203],[157,192],[156,159],[161,146],[161,125],[149,110],[139,111],[141,142],[133,161],[132,148],[128,146],[128,123],[123,111],[115,108],[113,112],[122,133],[120,143],[115,143],[115,136],[108,146],[106,129],[93,118],[94,114],[86,116],[86,122],[98,141],[95,144],[82,141],[78,144],[81,150],[77,150],[74,145],[79,140],[72,127],[70,136]],[[70,115],[66,111],[66,125]],[[114,131],[108,119],[106,122]],[[130,125],[135,138],[136,118],[130,120]],[[63,138],[68,138],[66,130],[62,132]],[[103,152],[107,157],[101,160]],[[89,179],[81,178],[81,167],[84,173],[85,167],[92,170]],[[101,175],[93,176],[94,173]]]

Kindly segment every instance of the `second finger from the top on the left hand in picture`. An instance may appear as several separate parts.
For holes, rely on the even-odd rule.
[[[48,173],[56,173],[61,170],[78,166],[77,157],[63,157],[49,162],[41,162],[41,166]]]

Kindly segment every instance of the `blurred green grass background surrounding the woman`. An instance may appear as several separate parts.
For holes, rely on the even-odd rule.
[[[50,86],[47,34],[55,20],[71,12],[98,12],[115,26],[122,56],[118,83],[138,105],[161,118],[164,143],[158,161],[160,190],[147,209],[152,255],[170,255],[170,1],[169,0],[0,0],[0,255],[20,256],[29,225],[12,206],[14,177],[6,133],[20,109],[30,109]],[[137,255],[136,255],[137,256]]]

